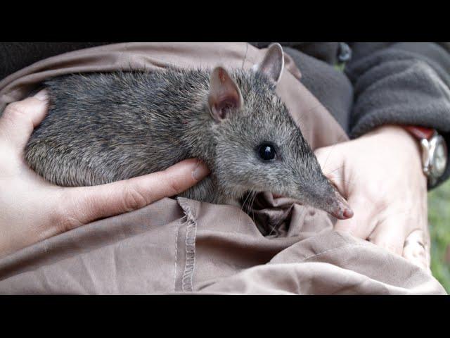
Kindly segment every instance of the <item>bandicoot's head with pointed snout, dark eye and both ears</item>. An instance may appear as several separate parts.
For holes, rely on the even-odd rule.
[[[276,95],[283,65],[283,49],[273,44],[250,72],[212,70],[207,106],[214,120],[217,180],[233,195],[272,192],[336,218],[350,218],[351,208],[323,175],[300,128]]]

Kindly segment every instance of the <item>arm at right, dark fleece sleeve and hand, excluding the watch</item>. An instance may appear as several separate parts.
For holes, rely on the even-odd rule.
[[[354,210],[335,229],[409,258],[406,239],[415,234],[428,265],[427,179],[404,126],[434,128],[449,142],[450,54],[433,43],[355,43],[352,51],[345,72],[354,84],[353,139],[316,151]],[[437,184],[447,177],[449,166]]]

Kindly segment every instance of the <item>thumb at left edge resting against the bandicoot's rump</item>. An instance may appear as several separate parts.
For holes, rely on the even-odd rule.
[[[0,118],[0,134],[4,141],[22,151],[34,127],[44,120],[47,104],[45,90],[23,101],[8,104]]]

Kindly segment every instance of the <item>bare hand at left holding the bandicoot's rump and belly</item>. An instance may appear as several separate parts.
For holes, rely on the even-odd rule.
[[[0,257],[99,218],[184,192],[208,175],[193,158],[159,173],[96,187],[57,187],[34,173],[23,149],[47,112],[46,93],[9,104],[0,117]]]

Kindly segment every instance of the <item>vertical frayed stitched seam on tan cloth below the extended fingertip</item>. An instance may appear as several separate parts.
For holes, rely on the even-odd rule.
[[[180,201],[181,202],[181,201]],[[181,204],[181,203],[180,203]],[[184,273],[181,277],[181,289],[182,291],[192,291],[193,290],[193,273],[195,268],[195,239],[197,236],[197,223],[193,217],[193,213],[189,206],[184,204],[182,206],[186,214],[186,261],[184,264]]]

